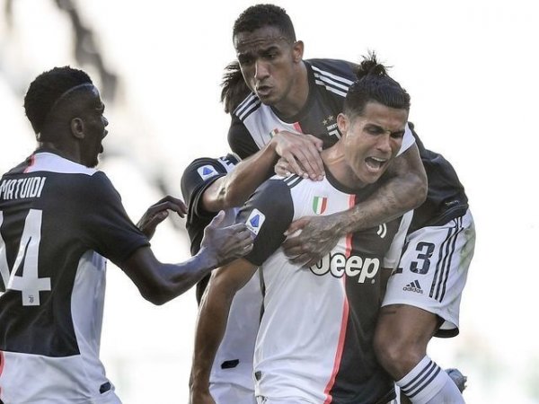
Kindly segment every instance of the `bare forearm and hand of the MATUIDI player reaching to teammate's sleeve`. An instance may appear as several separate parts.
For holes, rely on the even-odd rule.
[[[163,304],[186,292],[211,269],[231,259],[243,257],[252,250],[252,233],[245,224],[222,227],[225,212],[220,212],[204,231],[199,253],[180,264],[163,264],[149,247],[135,250],[119,263],[137,285],[146,300]]]

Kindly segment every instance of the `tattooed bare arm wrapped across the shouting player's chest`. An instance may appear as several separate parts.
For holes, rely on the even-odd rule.
[[[427,174],[416,145],[396,158],[387,173],[384,184],[370,198],[349,210],[327,216],[305,216],[290,224],[289,237],[283,244],[287,256],[295,263],[312,266],[345,234],[393,220],[424,202]]]

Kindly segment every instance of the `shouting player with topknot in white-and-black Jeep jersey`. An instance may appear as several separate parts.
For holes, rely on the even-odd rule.
[[[376,192],[376,181],[402,149],[410,96],[365,60],[336,119],[342,136],[322,159],[325,178],[274,177],[236,221],[256,234],[244,259],[212,274],[202,299],[191,402],[213,403],[209,369],[225,332],[234,293],[259,266],[264,292],[254,378],[259,403],[386,403],[393,382],[372,348],[382,298],[382,270],[396,265],[409,221],[395,219],[343,237],[319,263],[291,264],[279,248],[296,218],[330,215]],[[393,240],[394,238],[394,240]]]

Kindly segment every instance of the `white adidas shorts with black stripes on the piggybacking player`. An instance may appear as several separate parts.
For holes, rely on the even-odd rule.
[[[387,283],[382,306],[409,304],[437,314],[444,322],[436,336],[455,337],[474,248],[470,210],[447,224],[409,234],[399,267]]]

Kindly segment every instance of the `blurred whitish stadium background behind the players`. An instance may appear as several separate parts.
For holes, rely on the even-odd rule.
[[[411,121],[446,156],[471,200],[478,239],[461,335],[429,354],[469,378],[468,402],[539,403],[535,307],[539,279],[535,117],[537,6],[526,0],[276,1],[305,57],[358,60],[367,49],[411,93]],[[137,221],[181,171],[227,151],[219,83],[234,59],[234,19],[252,2],[0,0],[0,169],[34,147],[27,85],[52,66],[78,66],[102,89],[110,120],[101,168]],[[535,38],[535,40],[534,40]],[[188,257],[180,219],[153,241],[162,260]],[[102,360],[128,404],[187,402],[196,304],[146,303],[110,265]]]

